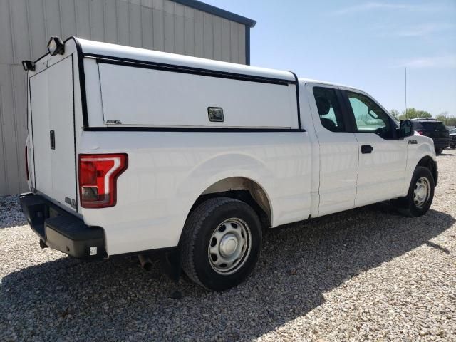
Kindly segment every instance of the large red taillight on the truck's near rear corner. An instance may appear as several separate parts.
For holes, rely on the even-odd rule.
[[[83,208],[106,208],[117,202],[116,183],[128,167],[128,155],[79,155],[79,197]]]

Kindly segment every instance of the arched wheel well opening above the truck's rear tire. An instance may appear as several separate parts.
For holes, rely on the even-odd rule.
[[[263,188],[253,180],[244,177],[229,177],[208,187],[190,209],[213,197],[230,197],[246,202],[257,212],[261,223],[271,227],[271,204]]]

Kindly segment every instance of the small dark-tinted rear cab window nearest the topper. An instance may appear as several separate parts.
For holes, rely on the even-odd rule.
[[[331,130],[331,132],[346,132],[341,104],[338,101],[336,90],[314,87],[314,97],[321,125],[327,130]]]

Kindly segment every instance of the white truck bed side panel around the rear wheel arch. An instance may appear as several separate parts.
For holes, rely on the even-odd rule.
[[[272,226],[309,217],[311,145],[305,132],[84,132],[81,153],[128,153],[118,202],[81,208],[105,229],[108,254],[176,246],[204,190],[246,177],[266,192]]]

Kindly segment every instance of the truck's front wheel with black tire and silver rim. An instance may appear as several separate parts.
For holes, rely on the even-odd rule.
[[[412,182],[405,197],[393,201],[400,214],[408,217],[424,215],[434,198],[435,181],[427,167],[418,166],[413,172]]]

